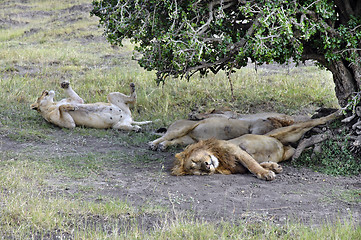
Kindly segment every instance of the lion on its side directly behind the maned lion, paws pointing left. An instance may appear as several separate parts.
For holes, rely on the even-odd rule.
[[[293,123],[293,117],[280,113],[257,113],[237,119],[223,115],[201,121],[181,119],[171,124],[162,137],[148,145],[152,150],[165,150],[172,145],[190,145],[209,138],[229,140],[248,133],[262,135]]]

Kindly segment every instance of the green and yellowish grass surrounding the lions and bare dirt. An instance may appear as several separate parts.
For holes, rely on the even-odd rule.
[[[277,111],[312,113],[318,107],[335,107],[332,76],[313,66],[290,70],[244,68],[232,75],[235,100],[224,73],[190,82],[168,79],[157,86],[155,73],[131,60],[133,45],[113,48],[100,41],[102,29],[89,13],[69,11],[90,0],[2,1],[0,3],[0,133],[14,144],[60,141],[58,128],[46,123],[32,104],[44,89],[65,97],[59,83],[69,80],[86,102],[106,101],[113,91],[129,92],[135,82],[136,120],[155,120],[143,133],[118,134],[112,130],[76,128],[65,134],[93,136],[144,146],[154,138],[149,132],[168,125],[198,108],[230,108],[241,113]],[[27,14],[23,14],[26,12]],[[196,216],[172,217],[170,209],[132,203],[98,194],[82,184],[98,178],[119,158],[137,167],[157,159],[146,151],[134,155],[85,153],[43,156],[37,149],[0,152],[0,235],[4,239],[360,239],[361,228],[351,221],[311,228],[299,223],[277,226],[266,221],[207,222]],[[159,175],[161,176],[160,169]],[[55,180],[59,182],[53,182]],[[65,180],[64,180],[65,179]],[[118,186],[117,190],[121,190]],[[78,189],[74,194],[67,188]],[[359,192],[339,198],[358,201]],[[356,199],[356,200],[355,200]],[[151,231],[138,219],[159,220]]]

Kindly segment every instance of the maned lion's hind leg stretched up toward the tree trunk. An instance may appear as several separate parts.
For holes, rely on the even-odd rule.
[[[325,124],[326,122],[331,121],[333,119],[336,119],[338,116],[340,116],[340,113],[341,110],[337,110],[336,112],[326,117],[317,118],[306,122],[296,123],[291,126],[278,128],[265,135],[269,137],[274,137],[280,140],[283,144],[294,143],[300,140],[303,134],[311,130],[311,128],[317,125]]]

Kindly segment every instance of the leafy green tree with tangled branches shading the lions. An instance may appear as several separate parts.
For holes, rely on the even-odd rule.
[[[313,59],[341,106],[361,87],[360,0],[94,0],[112,44],[130,38],[139,64],[189,78],[247,64]]]

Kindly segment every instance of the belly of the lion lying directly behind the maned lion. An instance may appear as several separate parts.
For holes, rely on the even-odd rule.
[[[209,138],[229,140],[249,133],[249,125],[246,122],[227,118],[221,118],[220,120],[218,119],[214,123],[212,121],[207,121],[203,124],[199,124],[192,132],[190,132],[190,136],[197,140]]]

